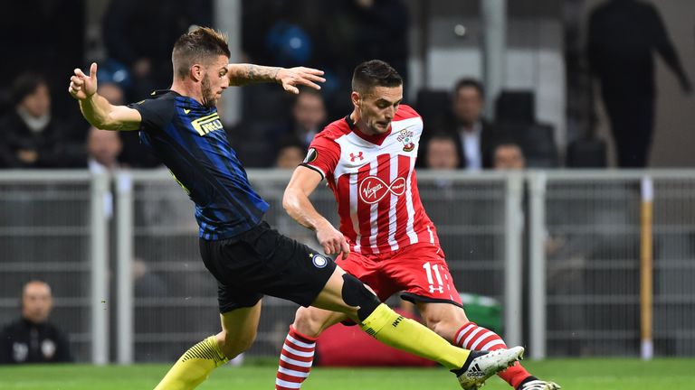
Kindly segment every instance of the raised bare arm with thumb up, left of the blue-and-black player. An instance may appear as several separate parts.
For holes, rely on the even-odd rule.
[[[81,69],[75,69],[68,88],[72,98],[80,102],[82,116],[91,125],[102,130],[138,130],[142,116],[138,110],[113,106],[109,100],[97,94],[97,64],[90,66],[87,76]]]

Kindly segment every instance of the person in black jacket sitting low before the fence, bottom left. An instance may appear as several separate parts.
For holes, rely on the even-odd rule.
[[[0,364],[71,362],[68,339],[50,322],[51,287],[33,280],[24,284],[22,318],[0,332]]]

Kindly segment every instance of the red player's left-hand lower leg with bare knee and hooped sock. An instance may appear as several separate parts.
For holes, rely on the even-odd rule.
[[[319,335],[323,330],[346,319],[347,315],[337,311],[300,307],[282,345],[275,389],[300,388],[311,371]]]

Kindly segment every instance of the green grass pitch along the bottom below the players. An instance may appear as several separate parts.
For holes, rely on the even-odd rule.
[[[695,389],[695,359],[549,359],[526,361],[537,376],[553,379],[563,389],[660,390]],[[167,372],[166,365],[24,366],[0,367],[0,389],[123,390],[152,389]],[[270,390],[275,367],[222,367],[198,388]],[[304,390],[430,390],[459,388],[443,368],[315,368]],[[486,390],[509,389],[490,378]]]

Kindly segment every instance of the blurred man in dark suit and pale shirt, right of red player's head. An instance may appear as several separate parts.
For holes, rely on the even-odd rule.
[[[467,171],[478,171],[491,166],[493,132],[482,118],[484,98],[484,90],[479,81],[461,79],[453,89],[451,111],[442,118],[429,121],[430,128],[439,129],[454,137],[459,167]],[[424,157],[426,160],[426,156]]]

